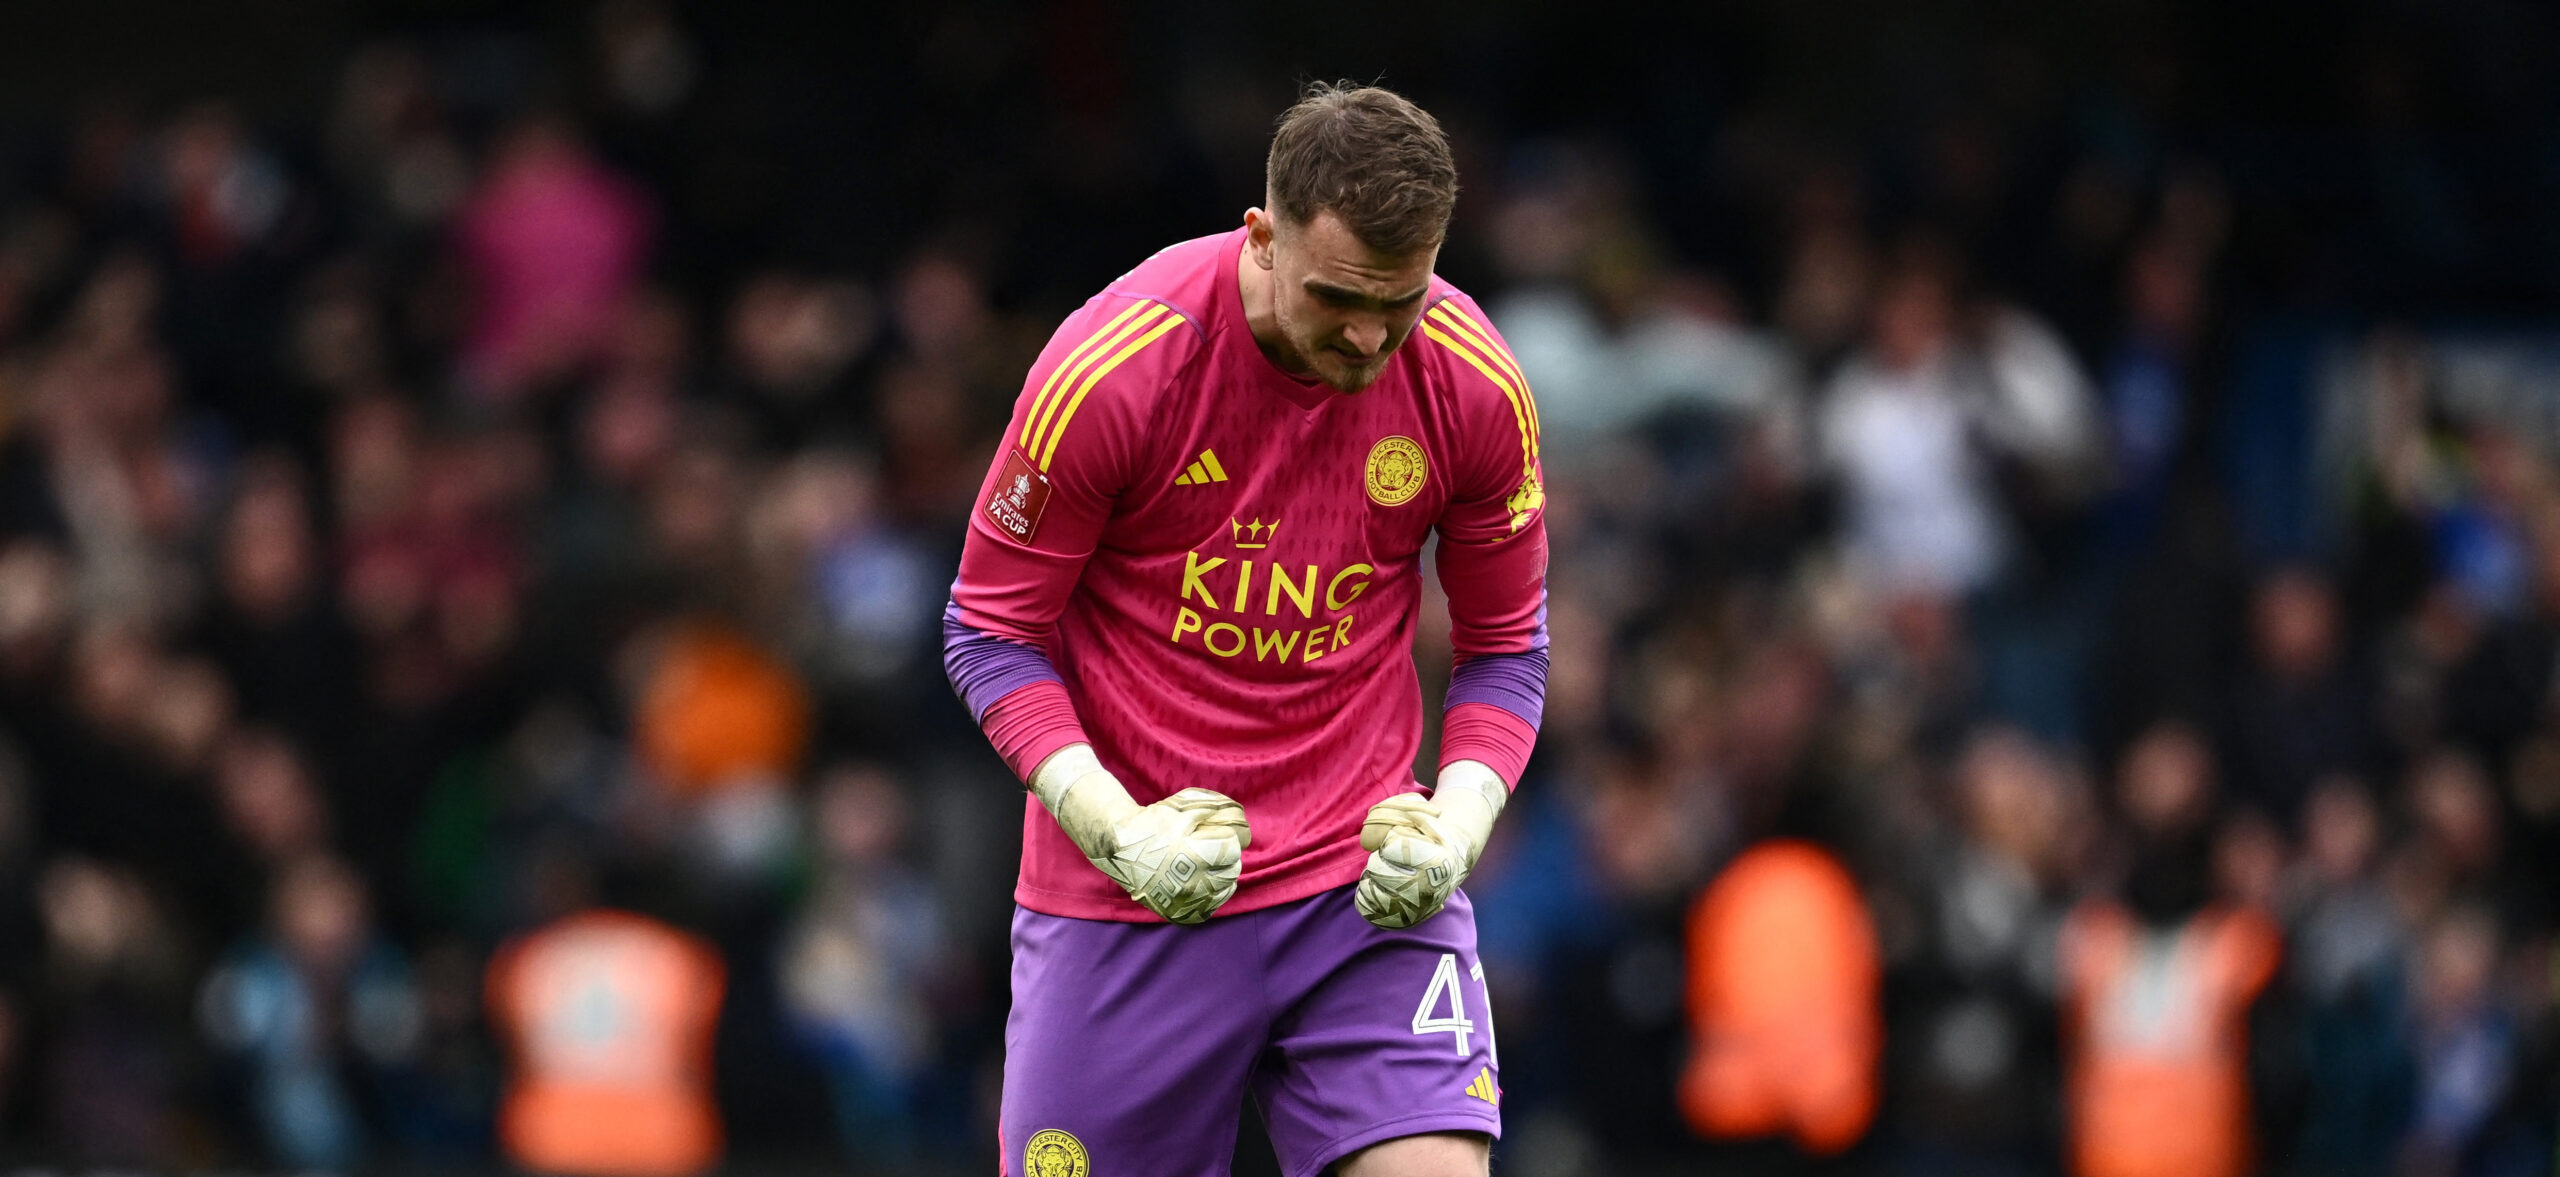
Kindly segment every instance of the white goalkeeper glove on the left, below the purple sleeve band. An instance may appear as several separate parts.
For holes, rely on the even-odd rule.
[[[1068,745],[1032,770],[1032,793],[1103,875],[1172,924],[1201,924],[1236,893],[1244,847],[1254,842],[1244,806],[1208,788],[1185,788],[1139,806],[1093,757]]]

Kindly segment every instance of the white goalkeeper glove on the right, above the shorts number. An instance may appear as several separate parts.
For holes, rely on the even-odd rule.
[[[1428,798],[1395,793],[1380,801],[1359,824],[1359,849],[1370,852],[1370,867],[1359,873],[1352,903],[1382,929],[1411,929],[1436,916],[1475,870],[1505,801],[1510,788],[1480,760],[1441,768]]]

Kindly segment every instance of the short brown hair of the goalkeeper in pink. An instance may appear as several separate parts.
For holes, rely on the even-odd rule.
[[[1280,115],[1265,187],[1293,225],[1334,210],[1364,246],[1411,253],[1449,233],[1457,161],[1439,120],[1403,95],[1316,82]]]

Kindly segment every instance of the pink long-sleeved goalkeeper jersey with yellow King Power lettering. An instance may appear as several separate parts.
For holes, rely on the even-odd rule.
[[[1244,230],[1185,241],[1060,325],[1024,381],[945,614],[952,683],[1016,773],[1091,739],[1139,803],[1244,806],[1219,913],[1359,878],[1359,821],[1418,788],[1421,553],[1459,670],[1441,762],[1508,783],[1546,673],[1539,415],[1485,312],[1434,276],[1359,394],[1280,371],[1236,289]],[[1027,798],[1042,913],[1152,921]]]

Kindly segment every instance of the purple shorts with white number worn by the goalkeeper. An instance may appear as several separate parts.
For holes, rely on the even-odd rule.
[[[1403,931],[1352,888],[1196,929],[1014,908],[1006,1177],[1224,1177],[1252,1090],[1288,1177],[1377,1141],[1503,1134],[1475,908]]]

